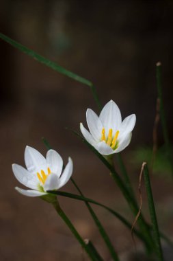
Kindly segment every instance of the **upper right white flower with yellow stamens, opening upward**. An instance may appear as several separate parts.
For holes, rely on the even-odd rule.
[[[86,120],[90,132],[81,123],[81,133],[99,153],[107,156],[120,152],[129,145],[136,116],[132,114],[122,122],[120,109],[110,100],[103,107],[99,117],[92,109],[88,109]]]

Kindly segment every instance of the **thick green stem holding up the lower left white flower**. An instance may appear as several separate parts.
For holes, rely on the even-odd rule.
[[[72,234],[79,241],[81,247],[83,247],[85,252],[88,253],[88,256],[90,257],[90,260],[102,261],[102,259],[98,259],[98,255],[96,255],[95,252],[92,251],[92,249],[87,244],[85,244],[85,241],[81,238],[81,236],[79,235],[79,233],[77,232],[75,227],[72,225],[72,223],[69,220],[69,218],[66,216],[66,214],[64,213],[62,208],[59,206],[59,203],[57,201],[54,201],[52,204],[53,204],[53,207],[55,208],[57,214],[59,214],[59,216],[64,220],[64,222],[66,223],[66,225],[68,226],[70,231],[72,231]],[[96,251],[96,249],[95,249],[95,251]]]

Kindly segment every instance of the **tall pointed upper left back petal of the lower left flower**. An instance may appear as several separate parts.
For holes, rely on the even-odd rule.
[[[46,159],[41,155],[38,150],[26,146],[25,148],[25,164],[29,172],[37,172],[40,169],[46,169]]]

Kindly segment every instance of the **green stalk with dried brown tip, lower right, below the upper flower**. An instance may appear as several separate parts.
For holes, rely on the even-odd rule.
[[[153,196],[152,196],[150,177],[149,177],[148,168],[147,168],[146,164],[144,166],[144,181],[145,181],[146,192],[147,192],[147,196],[148,196],[148,207],[149,207],[149,212],[150,212],[150,219],[152,222],[152,231],[153,231],[153,238],[155,240],[156,253],[159,258],[159,261],[163,261],[163,253],[162,253],[162,249],[161,249],[159,227],[158,227],[157,216],[156,216],[156,212],[155,212],[155,203],[154,203]]]

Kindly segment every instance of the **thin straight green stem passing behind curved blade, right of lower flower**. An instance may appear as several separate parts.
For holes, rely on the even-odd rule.
[[[77,188],[77,190],[81,194],[81,196],[83,196],[83,193],[79,189],[77,183],[75,183],[74,179],[71,178],[71,181],[72,181],[73,185],[75,185],[75,188]],[[92,207],[90,206],[88,201],[85,201],[85,205],[88,207],[88,210],[89,210],[94,222],[96,223],[96,226],[98,227],[98,230],[100,231],[100,234],[101,234],[103,240],[105,241],[107,248],[109,249],[109,253],[111,253],[111,257],[113,258],[113,260],[118,261],[119,260],[118,255],[117,255],[116,251],[114,250],[114,246],[112,245],[111,240],[109,239],[109,236],[107,235],[105,229],[103,228],[101,221],[96,216],[94,210],[92,209]]]

